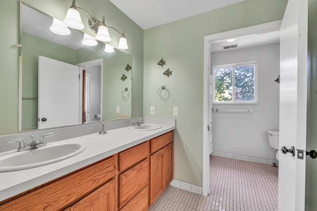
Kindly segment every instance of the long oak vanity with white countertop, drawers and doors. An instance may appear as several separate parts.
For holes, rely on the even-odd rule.
[[[173,179],[173,129],[123,127],[63,140],[86,149],[43,167],[0,172],[8,181],[0,185],[0,210],[146,211]]]

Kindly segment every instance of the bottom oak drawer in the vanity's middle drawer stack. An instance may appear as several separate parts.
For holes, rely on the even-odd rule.
[[[149,208],[148,198],[148,186],[145,186],[120,211],[147,211]]]

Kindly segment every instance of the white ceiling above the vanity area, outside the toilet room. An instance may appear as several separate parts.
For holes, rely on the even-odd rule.
[[[149,29],[244,0],[110,0],[137,23]]]

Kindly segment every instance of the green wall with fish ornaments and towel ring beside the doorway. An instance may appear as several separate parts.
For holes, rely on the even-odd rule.
[[[204,36],[280,20],[286,4],[246,0],[144,31],[144,116],[176,118],[175,179],[203,184]],[[164,67],[157,64],[161,58]],[[162,74],[167,68],[169,78]],[[170,92],[167,100],[157,95],[161,85]],[[178,116],[173,116],[173,107],[178,107]]]

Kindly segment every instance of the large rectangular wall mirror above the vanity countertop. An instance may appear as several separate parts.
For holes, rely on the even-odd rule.
[[[52,120],[52,117],[47,118],[47,115],[45,117],[38,115],[40,109],[46,108],[39,104],[39,85],[41,83],[41,75],[39,77],[39,56],[78,68],[76,75],[77,84],[79,84],[77,90],[79,98],[76,100],[78,101],[77,104],[74,105],[76,108],[73,109],[78,113],[76,117],[77,123],[60,121],[58,126],[54,125],[52,127],[67,127],[70,125],[131,118],[131,98],[129,100],[122,99],[120,95],[122,86],[117,80],[120,77],[120,70],[125,68],[126,64],[132,63],[130,55],[116,48],[113,48],[112,53],[105,52],[105,43],[103,42],[96,41],[97,45],[95,46],[84,45],[82,40],[86,35],[71,28],[67,28],[70,34],[67,30],[64,32],[69,35],[57,35],[50,30],[54,21],[53,17],[21,1],[20,14],[20,75],[22,80],[19,83],[21,90],[19,94],[19,103],[21,105],[19,109],[19,131],[41,128],[39,127],[39,121],[43,118],[47,119],[46,125],[49,125],[48,123]],[[83,70],[86,70],[86,72],[84,73]],[[95,77],[95,75],[97,76]],[[55,80],[51,80],[51,85],[53,87],[61,87],[61,79],[66,78],[66,72],[55,74],[55,76],[60,78],[59,80],[58,77]],[[126,77],[129,80],[125,81],[125,87],[131,89],[132,71],[127,72]],[[45,86],[41,89],[49,90]],[[63,90],[59,91],[60,95],[62,95],[62,92]],[[54,97],[50,97],[50,94],[45,94],[44,99],[54,100]],[[57,107],[51,108],[51,111],[61,110],[65,104],[67,104],[65,99],[59,100]],[[116,106],[120,106],[120,113],[116,112]],[[89,110],[87,107],[91,109]],[[99,110],[97,107],[99,107]],[[48,115],[52,116],[50,109],[48,111]],[[44,128],[48,128],[46,125]]]

